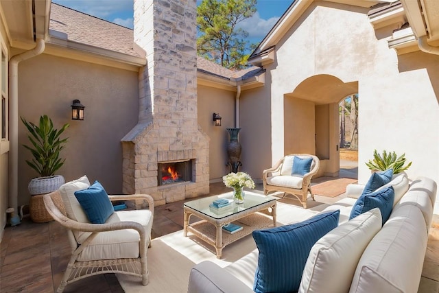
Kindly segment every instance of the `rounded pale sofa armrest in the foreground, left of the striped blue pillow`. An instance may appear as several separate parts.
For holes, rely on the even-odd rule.
[[[202,261],[195,265],[189,275],[188,293],[216,292],[253,292],[251,288],[239,281],[212,261]]]

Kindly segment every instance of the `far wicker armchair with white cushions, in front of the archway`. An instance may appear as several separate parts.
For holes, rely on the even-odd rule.
[[[303,177],[291,176],[294,156],[300,158],[313,159],[309,173]],[[307,208],[308,193],[314,200],[314,195],[311,191],[311,178],[317,174],[320,167],[320,160],[317,156],[312,154],[289,154],[279,160],[273,167],[263,171],[263,191],[268,194],[269,191],[283,191],[285,194],[292,194],[296,196],[303,207]]]

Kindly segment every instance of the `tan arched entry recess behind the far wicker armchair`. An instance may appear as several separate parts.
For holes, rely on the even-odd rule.
[[[285,154],[316,154],[319,176],[340,172],[339,103],[358,93],[358,82],[343,82],[333,75],[313,75],[284,96]]]

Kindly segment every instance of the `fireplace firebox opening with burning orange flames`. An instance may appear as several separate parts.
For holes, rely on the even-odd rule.
[[[158,163],[158,186],[192,181],[192,160]]]

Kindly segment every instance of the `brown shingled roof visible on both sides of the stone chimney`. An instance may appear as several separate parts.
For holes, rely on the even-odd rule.
[[[51,3],[49,29],[67,34],[67,39],[76,43],[134,57],[144,57],[133,48],[133,30],[53,2]],[[198,57],[197,69],[200,72],[227,80],[230,78],[250,78],[262,70],[259,67],[250,67],[241,71],[232,71],[202,57]]]

